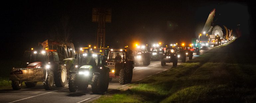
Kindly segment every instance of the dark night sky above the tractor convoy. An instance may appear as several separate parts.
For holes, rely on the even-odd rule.
[[[38,42],[51,39],[61,18],[68,17],[70,40],[75,48],[94,45],[98,24],[91,22],[92,8],[111,8],[112,23],[106,24],[106,45],[113,48],[135,42],[191,42],[202,30],[212,9],[218,23],[228,28],[249,27],[245,2],[223,1],[12,1],[1,3],[1,44],[4,52],[19,57]],[[170,26],[171,24],[171,26]],[[245,29],[245,31],[248,31]],[[2,49],[3,50],[3,49]],[[7,58],[4,56],[3,58]]]

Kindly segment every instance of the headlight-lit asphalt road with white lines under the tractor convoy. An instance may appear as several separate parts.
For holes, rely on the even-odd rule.
[[[206,51],[208,50],[201,50],[201,54]],[[195,53],[193,54],[193,58],[198,56],[195,55]],[[181,60],[178,60],[178,65],[179,64],[181,64]],[[160,72],[164,72],[171,67],[172,63],[167,63],[166,66],[161,66],[160,61],[151,61],[151,64],[147,66],[135,66],[135,68],[133,69],[132,83],[140,81],[152,75],[156,75]],[[128,86],[128,84],[121,85],[118,82],[118,78],[114,78],[111,82],[109,82],[108,91],[120,89],[126,86]],[[49,91],[43,88],[43,84],[38,84],[36,87],[33,88],[26,88],[24,86],[21,90],[0,90],[1,103],[79,103],[87,102],[98,97],[100,97],[100,95],[92,94],[90,85],[87,88],[87,91],[78,90],[74,93],[69,92],[68,84],[66,84],[65,87],[54,88],[53,90]]]

